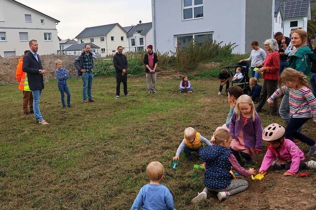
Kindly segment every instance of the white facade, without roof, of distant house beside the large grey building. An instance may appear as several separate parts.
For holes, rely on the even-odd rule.
[[[153,43],[153,28],[148,31],[146,35],[141,35],[139,33],[134,33],[131,36],[127,36],[128,38],[128,49],[127,51],[131,52],[140,52],[146,51],[147,46]]]

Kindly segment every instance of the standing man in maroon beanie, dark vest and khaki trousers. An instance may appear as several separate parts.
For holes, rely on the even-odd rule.
[[[147,92],[157,93],[156,91],[156,70],[157,70],[157,54],[153,52],[153,45],[147,46],[147,54],[144,57],[146,65]]]

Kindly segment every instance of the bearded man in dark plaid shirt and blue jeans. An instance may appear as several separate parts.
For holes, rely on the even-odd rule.
[[[77,68],[77,75],[81,76],[83,86],[82,86],[82,100],[83,104],[88,102],[95,102],[92,99],[92,81],[93,81],[93,57],[90,52],[90,45],[84,45],[84,52],[81,53],[75,60],[74,65]]]

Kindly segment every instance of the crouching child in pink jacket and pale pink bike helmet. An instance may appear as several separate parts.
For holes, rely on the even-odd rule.
[[[300,148],[291,140],[284,139],[285,129],[279,124],[268,125],[262,139],[268,142],[268,150],[263,158],[259,174],[264,174],[275,162],[277,171],[287,170],[283,175],[295,175],[298,170],[306,169],[305,157]]]

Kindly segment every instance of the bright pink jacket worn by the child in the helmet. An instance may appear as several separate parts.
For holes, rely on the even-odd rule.
[[[292,161],[290,169],[287,170],[290,174],[296,174],[299,170],[300,162],[305,159],[304,153],[293,141],[284,139],[283,145],[278,150],[268,146],[267,153],[263,158],[259,172],[267,171],[276,158]]]

